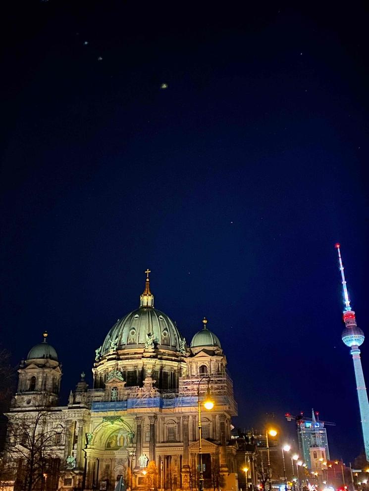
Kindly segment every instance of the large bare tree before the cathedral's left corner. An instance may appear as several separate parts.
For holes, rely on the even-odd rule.
[[[44,490],[46,477],[57,477],[55,459],[60,455],[62,432],[62,425],[43,404],[9,419],[4,460],[8,473],[15,478],[15,488]]]

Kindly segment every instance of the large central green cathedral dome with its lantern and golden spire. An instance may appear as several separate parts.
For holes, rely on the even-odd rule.
[[[147,273],[148,274],[148,273]],[[154,309],[154,295],[146,279],[140,308],[118,319],[108,332],[101,349],[101,356],[110,351],[145,348],[151,335],[155,348],[181,351],[185,340],[174,322],[163,312]]]

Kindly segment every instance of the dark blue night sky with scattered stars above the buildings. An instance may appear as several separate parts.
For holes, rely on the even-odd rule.
[[[47,329],[65,404],[150,268],[188,342],[204,316],[220,338],[236,426],[314,407],[348,462],[334,243],[369,333],[368,10],[254,3],[8,2],[1,343],[16,364]]]

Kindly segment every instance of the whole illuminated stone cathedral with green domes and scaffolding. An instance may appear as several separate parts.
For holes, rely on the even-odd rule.
[[[199,400],[205,488],[237,490],[230,433],[237,405],[220,341],[204,319],[188,346],[154,308],[149,272],[139,308],[118,319],[95,352],[92,389],[82,373],[67,405],[59,404],[61,364],[47,333],[21,363],[7,417],[21,428],[42,414],[34,431],[44,433],[43,442],[50,435],[42,490],[113,490],[121,477],[131,490],[198,488]],[[211,411],[201,404],[208,391]],[[23,490],[26,432],[16,433],[11,459],[17,460],[15,489]]]

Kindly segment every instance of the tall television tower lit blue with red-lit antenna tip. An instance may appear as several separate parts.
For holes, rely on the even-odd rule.
[[[347,292],[345,280],[345,273],[343,271],[340,245],[336,244],[335,247],[338,252],[338,261],[341,271],[343,297],[345,304],[345,309],[343,311],[343,321],[345,323],[345,329],[342,331],[342,341],[345,343],[346,346],[349,346],[351,348],[351,355],[354,361],[356,388],[358,391],[365,455],[367,460],[369,461],[369,402],[367,388],[365,387],[364,373],[359,350],[359,346],[364,343],[365,336],[364,332],[356,324],[355,312],[351,310],[350,299]]]

